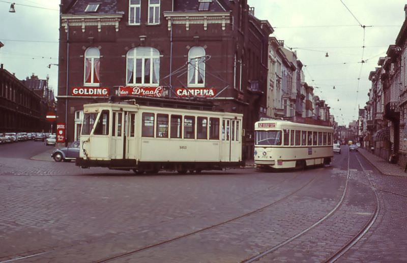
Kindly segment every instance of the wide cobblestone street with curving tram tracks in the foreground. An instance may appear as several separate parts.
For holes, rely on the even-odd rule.
[[[30,159],[51,149],[42,143],[1,145],[0,260],[320,262],[369,222],[338,261],[407,260],[407,177],[347,147],[304,171],[135,176]]]

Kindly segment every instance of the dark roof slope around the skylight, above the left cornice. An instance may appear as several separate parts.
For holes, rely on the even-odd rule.
[[[99,4],[96,12],[85,12],[89,4]],[[75,0],[73,4],[65,10],[66,14],[116,14],[117,0]]]

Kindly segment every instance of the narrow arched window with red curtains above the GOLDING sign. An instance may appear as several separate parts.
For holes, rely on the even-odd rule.
[[[100,83],[100,52],[96,47],[90,47],[85,50],[85,65],[84,65],[84,85],[98,86]]]

